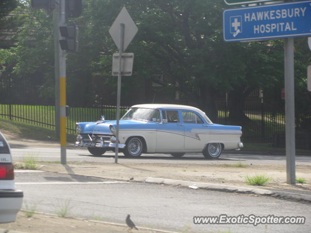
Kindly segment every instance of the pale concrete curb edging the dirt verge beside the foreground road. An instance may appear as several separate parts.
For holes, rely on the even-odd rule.
[[[223,191],[223,192],[235,192],[235,193],[244,193],[244,194],[256,194],[263,195],[275,198],[286,198],[293,200],[304,200],[311,201],[311,195],[306,194],[297,194],[291,192],[282,192],[282,191],[271,191],[267,189],[259,189],[259,188],[247,188],[247,187],[238,187],[238,186],[229,186],[224,184],[214,184],[214,183],[199,183],[199,182],[191,182],[191,181],[180,181],[180,180],[171,180],[164,178],[154,178],[148,177],[145,181],[146,183],[164,183],[169,185],[181,185],[184,187],[192,186],[208,189],[212,191]]]

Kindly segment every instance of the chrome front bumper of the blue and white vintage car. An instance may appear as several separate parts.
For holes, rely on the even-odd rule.
[[[110,138],[110,139],[109,139]],[[116,148],[116,138],[111,135],[109,138],[97,136],[97,138],[85,137],[80,134],[77,136],[76,147],[102,147],[102,148]],[[109,140],[108,140],[109,139]],[[118,148],[123,149],[125,144],[118,145]]]

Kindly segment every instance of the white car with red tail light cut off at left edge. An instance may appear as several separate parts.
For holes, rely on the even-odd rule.
[[[23,196],[23,191],[15,187],[10,146],[0,132],[0,223],[16,220]]]

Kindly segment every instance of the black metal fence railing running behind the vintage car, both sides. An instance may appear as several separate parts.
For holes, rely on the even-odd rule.
[[[125,114],[129,107],[120,108],[120,116]],[[246,105],[244,110],[248,120],[241,122],[242,141],[272,143],[277,133],[285,132],[285,116],[275,108],[258,105]],[[75,133],[76,122],[97,121],[101,116],[106,120],[116,119],[116,106],[98,105],[93,107],[70,107],[67,117],[67,132]],[[220,106],[218,121],[214,123],[236,125],[231,122],[229,112]],[[0,104],[0,118],[17,120],[28,124],[55,128],[55,107],[42,105]],[[296,132],[311,132],[311,116],[296,117]]]

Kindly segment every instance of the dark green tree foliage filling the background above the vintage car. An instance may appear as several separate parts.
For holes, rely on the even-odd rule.
[[[245,97],[258,87],[265,89],[273,104],[282,103],[282,40],[224,42],[221,16],[228,6],[214,0],[83,1],[82,16],[68,19],[68,24],[79,27],[79,51],[67,54],[68,102],[81,106],[115,101],[117,79],[111,76],[111,60],[117,47],[108,30],[123,6],[138,25],[127,49],[135,52],[135,63],[134,75],[122,80],[123,105],[151,102],[163,92],[172,97],[164,101],[174,102],[175,90],[179,90],[214,120],[218,96],[229,93],[230,117],[239,119]],[[22,18],[22,24],[14,36],[15,46],[0,50],[2,77],[27,80],[38,86],[41,98],[53,99],[52,16],[32,9],[30,0],[20,1],[15,12],[19,19],[14,21],[19,24]],[[300,114],[310,108],[305,68],[311,56],[304,38],[295,41],[296,91],[300,93],[296,109]],[[151,91],[155,75],[163,75],[162,92]],[[142,96],[133,92],[133,86],[144,90]]]

